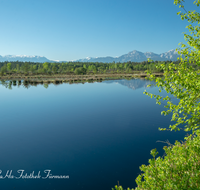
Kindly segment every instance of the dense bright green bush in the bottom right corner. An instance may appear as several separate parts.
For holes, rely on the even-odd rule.
[[[195,137],[186,137],[183,143],[176,141],[174,146],[163,149],[164,158],[155,158],[154,149],[149,165],[140,167],[144,173],[137,177],[135,190],[200,189],[200,132]]]

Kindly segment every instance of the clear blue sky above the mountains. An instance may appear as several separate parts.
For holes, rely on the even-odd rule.
[[[173,0],[0,0],[0,55],[163,53],[184,42],[178,11]]]

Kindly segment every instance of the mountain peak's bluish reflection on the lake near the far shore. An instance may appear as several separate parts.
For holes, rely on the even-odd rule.
[[[138,88],[146,88],[149,84],[156,84],[153,81],[149,81],[146,79],[131,79],[131,80],[110,80],[110,81],[103,81],[104,83],[118,83],[123,86],[127,86],[128,88],[131,88],[133,90],[136,90]]]

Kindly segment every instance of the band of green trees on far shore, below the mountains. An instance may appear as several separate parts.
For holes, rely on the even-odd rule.
[[[180,61],[174,62],[178,64]],[[125,63],[99,63],[99,62],[62,62],[62,63],[35,63],[35,62],[0,62],[0,75],[11,74],[106,74],[106,73],[133,73],[134,71],[149,70],[163,72],[157,66],[170,65],[171,61],[143,61]],[[194,64],[195,65],[195,64]]]

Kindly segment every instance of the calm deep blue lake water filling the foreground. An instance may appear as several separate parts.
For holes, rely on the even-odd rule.
[[[166,144],[156,141],[174,143],[185,136],[158,131],[169,126],[170,116],[161,116],[163,106],[143,94],[145,89],[158,94],[157,87],[146,88],[149,83],[132,79],[12,90],[0,85],[0,189],[111,190],[118,181],[135,187],[150,150],[163,155]],[[1,179],[11,170],[10,178]],[[41,177],[20,178],[18,170]],[[44,170],[69,178],[42,179]]]

